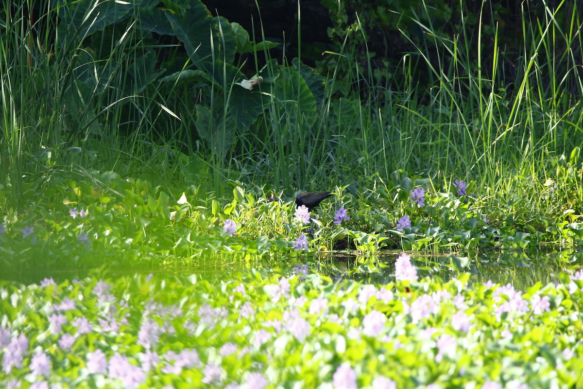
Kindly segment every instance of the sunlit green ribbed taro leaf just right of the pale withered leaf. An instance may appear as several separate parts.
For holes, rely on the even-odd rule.
[[[292,127],[301,122],[311,127],[317,118],[314,94],[295,69],[281,67],[280,70],[282,74],[275,81],[274,92],[282,116],[287,115]]]

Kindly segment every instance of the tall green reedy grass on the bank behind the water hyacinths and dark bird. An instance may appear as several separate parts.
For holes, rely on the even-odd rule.
[[[321,94],[310,90],[316,96],[312,110],[302,105],[308,101],[303,79],[311,73],[294,65],[300,62],[255,51],[248,60],[265,79],[259,92],[262,114],[245,131],[233,132],[227,113],[239,80],[215,68],[223,82],[221,99],[214,98],[219,91],[212,86],[208,101],[224,108],[223,120],[208,122],[219,128],[210,148],[194,130],[192,89],[178,81],[159,82],[156,58],[146,57],[148,43],[136,26],[139,10],[117,35],[90,45],[83,40],[86,26],[58,30],[57,9],[48,0],[30,2],[29,8],[8,4],[0,43],[0,183],[14,206],[26,188],[43,182],[37,178],[47,180],[58,171],[89,174],[89,169],[153,172],[171,186],[198,180],[195,184],[217,194],[229,180],[291,195],[351,182],[371,187],[377,174],[383,180],[438,177],[446,185],[455,176],[502,191],[507,188],[501,181],[513,175],[546,178],[552,161],[581,146],[583,23],[577,3],[570,13],[566,2],[547,6],[538,24],[528,22],[525,8],[525,49],[515,57],[498,47],[498,33],[493,52],[484,52],[483,23],[474,31],[467,15],[454,36],[440,36],[427,7],[415,19],[425,39],[402,30],[416,51],[404,53],[398,68],[384,74],[375,70],[371,53],[357,60],[354,35],[347,34],[339,51],[323,54],[336,58],[336,65],[323,75]],[[38,20],[31,20],[29,9],[40,10]],[[92,12],[87,10],[87,23]],[[366,41],[362,23],[357,18],[353,33]],[[497,31],[496,24],[491,27]],[[66,41],[55,42],[53,36]],[[482,66],[485,58],[490,69]],[[259,69],[261,59],[265,69]],[[514,85],[505,83],[504,61],[517,69]],[[183,71],[191,66],[187,62]],[[381,74],[373,76],[375,71]],[[431,73],[429,85],[413,82],[413,74],[422,71]],[[233,149],[217,152],[229,134],[236,136]]]

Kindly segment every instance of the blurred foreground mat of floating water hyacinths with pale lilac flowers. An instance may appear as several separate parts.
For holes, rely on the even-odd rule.
[[[0,285],[3,388],[583,386],[583,271],[557,285],[317,274]]]

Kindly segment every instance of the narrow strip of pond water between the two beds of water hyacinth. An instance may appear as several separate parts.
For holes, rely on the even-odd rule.
[[[389,283],[395,281],[395,260],[400,252],[382,253],[371,259],[346,253],[328,253],[319,258],[294,257],[279,259],[240,260],[232,257],[213,259],[198,258],[188,266],[168,266],[164,268],[106,268],[106,269],[12,269],[0,273],[0,279],[29,285],[39,283],[45,277],[52,277],[57,283],[65,279],[82,279],[87,276],[97,278],[119,278],[120,276],[153,273],[154,276],[178,276],[197,274],[205,279],[229,279],[247,269],[259,269],[264,274],[276,272],[318,272],[331,279],[354,279],[366,283]],[[457,275],[451,266],[449,255],[408,253],[417,267],[420,277],[438,276],[448,281]],[[460,254],[456,254],[462,257]],[[555,282],[561,271],[574,272],[583,266],[582,250],[563,251],[491,251],[466,257],[463,269],[471,274],[472,282],[511,283],[515,288],[525,290],[536,282],[546,285]]]

